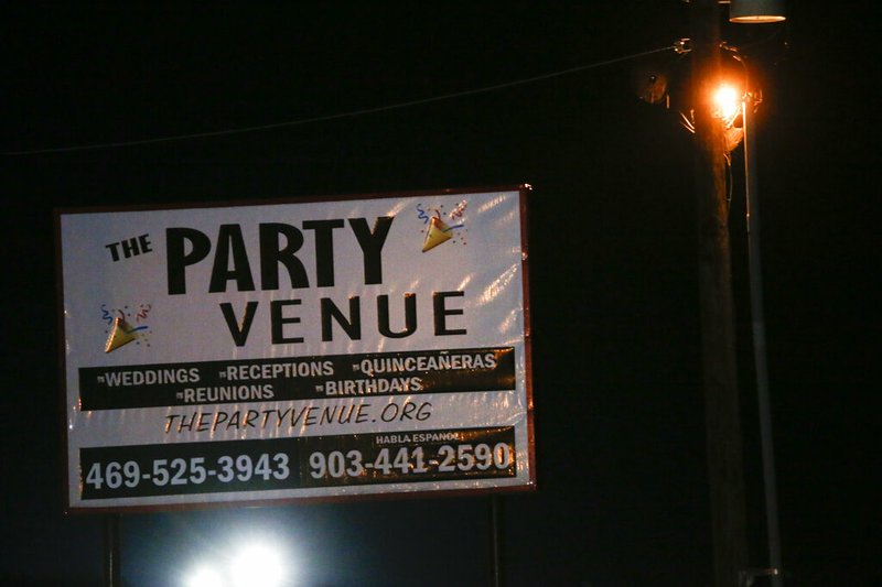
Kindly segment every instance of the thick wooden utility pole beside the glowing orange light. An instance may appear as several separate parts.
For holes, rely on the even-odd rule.
[[[692,0],[692,104],[708,480],[714,587],[738,587],[746,567],[734,301],[728,226],[723,128],[712,88],[720,79],[717,0]]]

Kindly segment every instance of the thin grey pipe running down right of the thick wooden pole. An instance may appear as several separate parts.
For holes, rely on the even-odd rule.
[[[772,409],[768,401],[768,370],[766,366],[765,309],[763,305],[763,272],[760,256],[760,206],[756,184],[756,132],[753,126],[754,95],[747,93],[742,101],[744,131],[744,191],[746,196],[747,262],[750,265],[751,325],[753,331],[753,362],[756,373],[757,409],[760,413],[760,443],[763,461],[763,489],[765,492],[766,536],[768,564],[773,587],[784,585],[778,529],[778,498],[775,479],[775,450],[772,437]]]

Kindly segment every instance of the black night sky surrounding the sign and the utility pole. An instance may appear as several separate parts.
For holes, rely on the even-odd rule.
[[[789,4],[785,24],[722,30],[764,84],[756,171],[786,584],[880,585],[880,11]],[[499,500],[506,584],[709,585],[692,140],[635,89],[664,67],[686,80],[686,57],[650,52],[689,36],[688,12],[679,0],[3,3],[0,583],[101,584],[103,518],[63,512],[54,208],[528,183],[538,488]],[[410,102],[422,104],[388,108]],[[732,161],[760,567],[740,149]],[[269,533],[299,585],[486,585],[490,504],[126,514],[122,574],[176,586],[232,537]]]

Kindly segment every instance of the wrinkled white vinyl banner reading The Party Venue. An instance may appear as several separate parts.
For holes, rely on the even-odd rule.
[[[526,193],[58,211],[68,509],[531,488]]]

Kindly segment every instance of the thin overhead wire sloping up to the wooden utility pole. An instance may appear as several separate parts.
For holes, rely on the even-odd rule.
[[[41,154],[50,154],[50,153],[71,153],[76,151],[94,151],[99,149],[117,149],[122,146],[137,146],[143,144],[157,144],[157,143],[169,143],[169,142],[176,142],[176,141],[187,141],[192,139],[206,139],[212,137],[227,137],[230,134],[245,134],[247,132],[259,132],[265,130],[272,130],[272,129],[280,129],[284,127],[299,127],[303,124],[313,124],[316,122],[326,122],[329,120],[338,120],[342,118],[355,118],[365,115],[373,115],[377,112],[387,112],[389,110],[400,110],[402,108],[411,108],[415,106],[421,106],[426,104],[432,102],[440,102],[444,100],[452,100],[455,98],[464,98],[467,96],[475,96],[478,94],[487,94],[491,91],[497,91],[501,89],[512,88],[515,86],[524,86],[527,84],[535,84],[537,81],[542,81],[546,79],[551,79],[553,77],[561,77],[566,75],[577,74],[579,72],[584,72],[588,69],[596,69],[599,67],[604,67],[607,65],[612,65],[615,63],[626,62],[636,59],[639,57],[644,57],[646,55],[652,55],[655,53],[663,53],[665,51],[676,50],[677,45],[668,45],[662,48],[655,48],[652,51],[644,51],[642,53],[635,53],[633,55],[626,55],[624,57],[616,57],[612,59],[606,59],[603,62],[596,62],[588,65],[580,65],[578,67],[570,67],[568,69],[560,69],[558,72],[551,72],[548,74],[542,74],[534,77],[527,77],[521,79],[515,79],[513,81],[505,81],[502,84],[495,84],[493,86],[484,86],[481,88],[473,88],[466,89],[462,91],[453,91],[450,94],[442,94],[439,96],[432,96],[429,98],[420,98],[417,100],[408,100],[404,102],[396,102],[389,104],[385,106],[377,106],[374,108],[363,108],[361,110],[349,110],[346,112],[337,112],[334,115],[325,115],[312,118],[300,118],[295,120],[286,120],[282,122],[271,122],[268,124],[258,124],[254,127],[239,127],[234,129],[223,129],[216,131],[207,131],[207,132],[195,132],[189,134],[172,134],[165,137],[154,137],[152,139],[138,139],[131,141],[112,141],[112,142],[103,142],[103,143],[88,143],[88,144],[78,144],[78,145],[71,145],[71,146],[52,146],[52,148],[44,148],[44,149],[29,149],[29,150],[21,150],[21,151],[4,151],[2,154],[4,156],[23,156],[23,155],[41,155]]]

